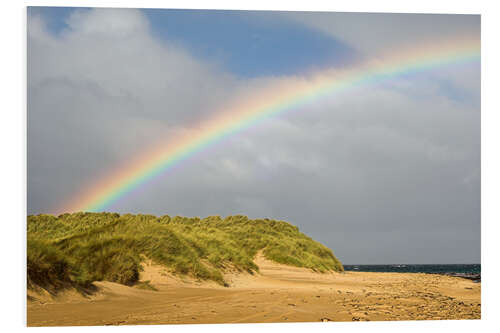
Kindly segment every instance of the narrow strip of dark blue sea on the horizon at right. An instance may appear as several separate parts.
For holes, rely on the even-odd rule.
[[[481,274],[481,264],[449,265],[344,265],[346,271],[358,272],[399,272],[399,273],[434,273],[446,275]]]

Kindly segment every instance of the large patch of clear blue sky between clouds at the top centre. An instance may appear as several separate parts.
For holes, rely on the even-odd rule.
[[[155,36],[245,76],[300,74],[340,66],[354,50],[280,12],[145,9]]]

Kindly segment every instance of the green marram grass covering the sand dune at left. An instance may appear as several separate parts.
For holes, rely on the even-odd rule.
[[[137,284],[149,258],[177,274],[222,285],[225,268],[258,271],[255,254],[318,272],[342,271],[332,251],[283,221],[116,213],[28,216],[28,286]]]

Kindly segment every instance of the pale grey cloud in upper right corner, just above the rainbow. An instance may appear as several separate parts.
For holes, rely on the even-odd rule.
[[[480,36],[479,15],[290,12],[290,19],[366,54],[457,36]]]

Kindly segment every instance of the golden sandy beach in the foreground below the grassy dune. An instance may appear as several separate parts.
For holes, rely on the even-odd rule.
[[[157,291],[96,282],[83,296],[28,291],[28,326],[480,319],[481,283],[420,273],[315,273],[258,255],[259,273],[228,272],[230,287],[148,263]]]

